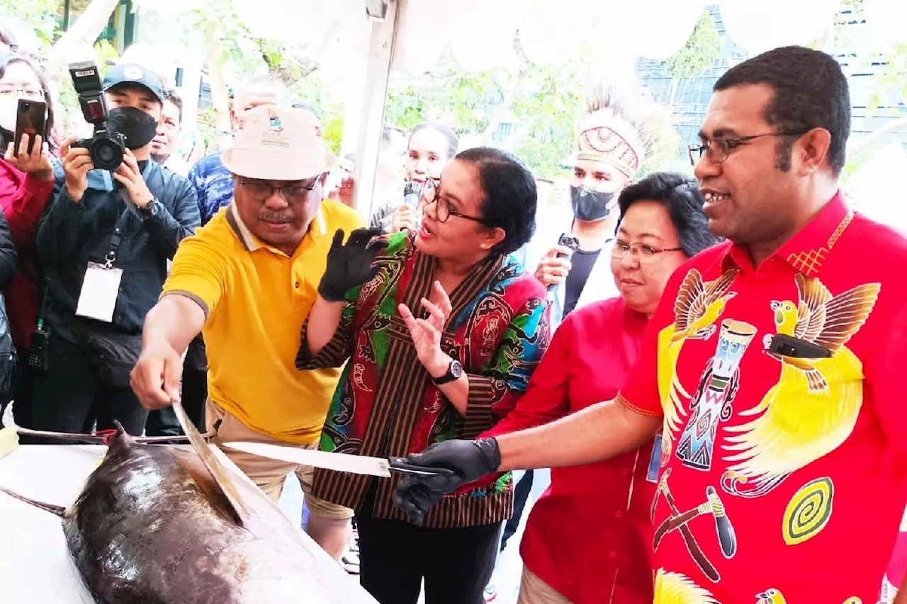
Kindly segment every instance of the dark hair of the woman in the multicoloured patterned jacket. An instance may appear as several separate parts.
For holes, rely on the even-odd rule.
[[[453,159],[468,161],[479,171],[483,222],[507,233],[493,251],[510,254],[522,248],[535,232],[538,204],[535,179],[529,168],[507,151],[492,147],[467,149]]]

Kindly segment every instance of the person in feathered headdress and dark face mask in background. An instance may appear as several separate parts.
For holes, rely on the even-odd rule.
[[[649,149],[646,115],[639,95],[616,83],[591,96],[580,129],[571,179],[571,214],[540,219],[540,232],[526,250],[526,267],[552,292],[556,326],[575,308],[618,294],[608,276],[614,245],[618,196],[633,181]],[[545,225],[551,225],[546,228]],[[579,239],[572,253],[558,243],[561,233]],[[537,252],[544,252],[540,255]]]

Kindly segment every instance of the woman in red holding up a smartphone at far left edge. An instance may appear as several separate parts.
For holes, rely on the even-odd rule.
[[[22,112],[22,117],[20,100],[30,102],[30,111]],[[25,124],[26,120],[31,123]],[[19,132],[24,132],[26,125],[27,129],[40,132],[31,136],[22,134],[18,148],[15,145],[17,121],[22,122],[18,124]],[[54,194],[59,148],[54,134],[54,102],[50,87],[39,68],[21,54],[0,54],[0,151],[3,153],[0,159],[0,208],[9,223],[12,243],[18,248],[17,266],[13,267],[15,278],[12,271],[6,278],[5,268],[0,268],[0,287],[5,293],[6,314],[20,360],[19,387],[13,408],[15,423],[28,427],[31,425],[33,380],[25,359],[43,282],[34,249],[34,231]],[[3,239],[2,234],[0,239]]]

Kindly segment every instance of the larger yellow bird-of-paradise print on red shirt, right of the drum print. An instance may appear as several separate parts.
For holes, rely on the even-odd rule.
[[[838,296],[817,278],[796,276],[799,302],[772,302],[775,331],[828,349],[827,358],[775,356],[781,376],[755,407],[755,420],[727,427],[727,492],[758,497],[795,470],[834,451],[853,431],[863,405],[863,364],[847,346],[872,312],[877,283]],[[766,337],[766,345],[768,343]],[[743,485],[747,485],[743,487]]]

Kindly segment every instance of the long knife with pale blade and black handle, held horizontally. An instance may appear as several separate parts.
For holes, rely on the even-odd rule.
[[[280,444],[249,443],[246,441],[233,441],[223,443],[225,447],[252,453],[259,457],[270,457],[283,462],[301,463],[317,468],[334,470],[336,472],[351,472],[354,474],[368,474],[390,478],[391,472],[419,474],[422,476],[453,475],[447,468],[431,468],[406,463],[404,458],[392,457],[367,457],[366,455],[350,455],[348,453],[328,453],[314,451],[301,447],[284,446]]]

